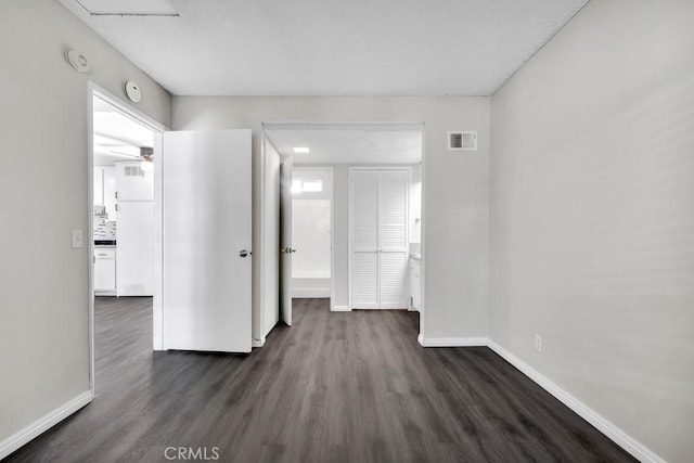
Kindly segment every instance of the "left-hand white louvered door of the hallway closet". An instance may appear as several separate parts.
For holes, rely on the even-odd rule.
[[[351,307],[378,308],[378,172],[351,176]]]

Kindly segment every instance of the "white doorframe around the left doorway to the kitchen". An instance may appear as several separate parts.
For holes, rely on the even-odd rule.
[[[94,365],[94,101],[99,97],[120,111],[124,116],[147,127],[154,133],[155,153],[162,154],[162,134],[169,130],[163,124],[138,111],[103,87],[87,81],[87,236],[88,246],[88,300],[89,300],[89,388],[95,394]],[[158,151],[157,151],[158,147]],[[154,163],[154,298],[153,298],[153,349],[163,350],[163,313],[160,298],[163,294],[163,259],[162,259],[162,163]],[[117,252],[117,249],[116,249]],[[158,323],[157,323],[158,322]]]

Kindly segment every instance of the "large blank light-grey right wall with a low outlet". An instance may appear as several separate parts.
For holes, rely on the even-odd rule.
[[[692,18],[589,2],[492,98],[490,336],[671,462],[694,454]]]

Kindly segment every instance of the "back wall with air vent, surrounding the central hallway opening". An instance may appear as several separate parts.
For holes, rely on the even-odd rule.
[[[426,314],[421,331],[427,338],[484,336],[488,298],[489,104],[489,98],[457,97],[175,97],[174,128],[248,127],[255,133],[257,154],[264,121],[425,123]],[[460,129],[478,130],[478,152],[446,150],[446,131]],[[257,178],[258,159],[255,166]],[[336,172],[336,185],[337,177]],[[254,201],[259,205],[258,197]],[[335,210],[337,207],[335,204]],[[257,210],[258,207],[256,234]],[[254,248],[258,248],[257,241]],[[257,263],[255,259],[254,254]],[[255,300],[257,304],[257,297]]]

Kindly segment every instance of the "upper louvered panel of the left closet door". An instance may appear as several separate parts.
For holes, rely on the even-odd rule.
[[[352,172],[352,246],[376,250],[378,246],[378,173]]]

